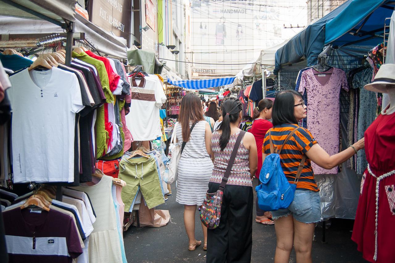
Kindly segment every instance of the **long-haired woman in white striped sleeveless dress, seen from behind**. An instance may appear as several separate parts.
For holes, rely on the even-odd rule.
[[[181,101],[179,124],[176,135],[179,145],[186,141],[177,170],[176,201],[184,205],[184,224],[189,239],[188,250],[201,245],[195,239],[196,207],[203,204],[209,180],[213,173],[211,161],[211,128],[203,119],[201,102],[197,95],[186,94]],[[196,123],[192,132],[190,128]],[[200,220],[199,220],[200,221]],[[207,228],[202,224],[203,249],[207,249]]]

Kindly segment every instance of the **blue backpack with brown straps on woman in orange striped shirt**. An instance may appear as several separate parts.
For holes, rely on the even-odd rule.
[[[301,163],[299,164],[295,182],[290,184],[284,175],[284,171],[282,171],[279,153],[297,129],[299,129],[299,127],[295,128],[290,134],[288,134],[284,143],[281,145],[280,150],[277,150],[277,147],[273,146],[269,130],[270,154],[266,156],[262,165],[261,173],[259,174],[261,184],[255,188],[258,196],[258,206],[264,211],[285,209],[289,207],[293,201],[297,181],[299,180],[302,169],[305,166],[306,155],[303,155]]]

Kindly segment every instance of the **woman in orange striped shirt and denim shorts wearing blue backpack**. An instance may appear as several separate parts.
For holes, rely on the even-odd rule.
[[[299,92],[279,92],[273,105],[273,128],[263,141],[258,203],[262,209],[272,209],[277,237],[275,263],[288,263],[292,248],[295,248],[296,262],[312,262],[312,240],[315,223],[321,219],[321,207],[311,161],[332,169],[365,147],[362,138],[346,150],[329,156],[310,131],[298,125],[299,120],[307,116],[306,109]],[[276,189],[268,190],[275,182]],[[281,190],[282,186],[288,188]]]

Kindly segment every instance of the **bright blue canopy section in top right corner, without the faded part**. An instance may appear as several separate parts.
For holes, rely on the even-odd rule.
[[[358,43],[374,47],[383,41],[384,20],[391,17],[394,1],[349,0],[348,5],[325,24],[325,45]],[[350,34],[348,34],[350,33]]]

